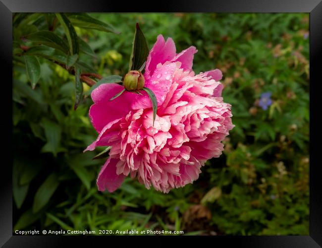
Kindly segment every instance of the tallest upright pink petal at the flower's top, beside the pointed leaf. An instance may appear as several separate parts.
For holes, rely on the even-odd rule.
[[[166,61],[171,61],[175,55],[173,40],[168,38],[165,42],[163,36],[159,35],[157,42],[154,44],[147,58],[144,74],[145,78],[150,79],[159,63],[163,64]]]

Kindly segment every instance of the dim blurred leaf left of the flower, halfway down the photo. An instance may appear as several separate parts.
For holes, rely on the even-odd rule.
[[[56,156],[59,151],[62,151],[60,148],[61,127],[47,119],[43,119],[41,124],[45,129],[47,139],[47,143],[43,146],[42,152],[51,152]]]

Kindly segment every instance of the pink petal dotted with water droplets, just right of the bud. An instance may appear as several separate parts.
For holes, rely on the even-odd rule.
[[[152,90],[156,95],[158,106],[165,100],[165,95],[170,89],[173,73],[176,68],[176,63],[163,64],[161,67],[155,69],[152,77],[145,84],[145,87]],[[141,93],[143,96],[136,96],[136,100],[132,103],[132,109],[146,109],[152,107],[151,100],[147,93],[145,91],[141,91]]]

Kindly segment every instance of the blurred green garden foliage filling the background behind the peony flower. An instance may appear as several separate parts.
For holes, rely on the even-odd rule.
[[[208,161],[192,185],[163,194],[128,178],[113,193],[99,192],[96,177],[105,159],[92,158],[104,147],[82,152],[97,136],[88,117],[90,87],[83,83],[84,97],[74,111],[75,77],[46,56],[30,58],[21,49],[33,46],[25,36],[39,30],[54,30],[68,44],[64,29],[54,14],[18,16],[13,32],[14,230],[309,235],[309,15],[90,15],[121,34],[109,33],[108,24],[98,31],[73,23],[82,39],[76,64],[83,72],[123,76],[139,22],[150,49],[162,34],[174,40],[177,52],[197,47],[196,73],[223,72],[223,98],[232,105],[236,126],[224,140],[223,154]],[[272,94],[267,111],[258,105],[263,92]]]

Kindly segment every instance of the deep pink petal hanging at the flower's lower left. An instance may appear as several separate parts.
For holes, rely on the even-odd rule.
[[[118,161],[119,159],[109,157],[105,162],[96,181],[100,191],[107,189],[109,192],[113,192],[123,183],[125,176],[123,174],[116,174],[116,164]]]

